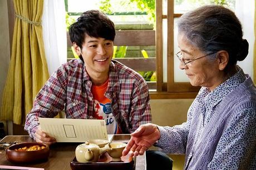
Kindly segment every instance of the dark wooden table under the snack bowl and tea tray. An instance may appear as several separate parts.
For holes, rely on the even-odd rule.
[[[112,142],[127,142],[130,138],[129,134],[117,134],[112,139]],[[29,136],[6,136],[0,142],[35,142]],[[71,169],[70,162],[75,157],[75,149],[79,143],[56,143],[50,146],[50,156],[47,162],[29,163],[29,164],[13,164],[6,159],[6,152],[0,150],[0,165],[6,166],[23,166],[45,168],[50,170],[55,169]],[[146,170],[146,156],[137,156],[136,170]]]

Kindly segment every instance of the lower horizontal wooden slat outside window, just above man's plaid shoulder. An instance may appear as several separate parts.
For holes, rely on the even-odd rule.
[[[155,71],[156,58],[114,58],[135,71]],[[141,67],[143,66],[143,67]]]

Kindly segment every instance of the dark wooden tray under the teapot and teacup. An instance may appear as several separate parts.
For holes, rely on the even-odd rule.
[[[124,169],[124,170],[134,170],[135,169],[135,158],[121,157],[122,162],[112,162],[112,158],[107,152],[103,154],[99,162],[92,163],[80,163],[77,162],[76,157],[70,162],[70,167],[73,170],[80,169],[105,169],[105,170],[115,170],[115,169]]]

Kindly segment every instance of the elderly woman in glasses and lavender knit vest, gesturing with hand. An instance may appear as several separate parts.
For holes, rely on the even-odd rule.
[[[131,134],[123,155],[154,144],[186,154],[184,169],[255,169],[256,89],[237,66],[248,54],[241,24],[221,6],[203,6],[178,23],[180,69],[201,89],[187,121],[174,127],[144,124]]]

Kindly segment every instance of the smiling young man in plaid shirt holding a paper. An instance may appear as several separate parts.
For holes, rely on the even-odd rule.
[[[131,133],[151,122],[149,89],[140,74],[112,61],[114,23],[99,11],[83,13],[70,26],[80,59],[63,64],[38,93],[24,129],[37,142],[55,143],[42,132],[38,117],[105,119],[109,134]]]

